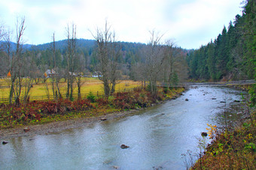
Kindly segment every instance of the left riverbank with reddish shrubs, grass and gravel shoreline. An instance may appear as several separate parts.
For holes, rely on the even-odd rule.
[[[3,140],[20,136],[35,136],[57,133],[62,130],[82,127],[84,124],[90,124],[96,121],[122,118],[127,115],[131,115],[132,113],[136,113],[141,109],[163,103],[166,100],[174,99],[178,97],[182,91],[184,91],[184,88],[172,89],[172,91],[167,91],[167,93],[164,93],[163,89],[160,89],[157,97],[152,98],[147,91],[137,89],[136,91],[129,93],[118,93],[116,96],[108,100],[99,99],[96,100],[95,103],[88,103],[89,101],[86,100],[87,107],[84,107],[84,110],[79,109],[78,111],[73,110],[71,112],[66,110],[66,112],[59,112],[59,114],[47,114],[50,112],[50,108],[45,109],[44,111],[37,108],[36,110],[40,112],[39,121],[36,119],[36,116],[29,119],[29,112],[23,113],[20,115],[20,118],[17,116],[17,120],[20,121],[15,121],[13,118],[15,112],[13,112],[8,118],[9,120],[13,118],[13,122],[17,124],[13,123],[10,124],[10,126],[5,126],[5,128],[3,128],[3,124],[7,124],[7,122],[4,120],[4,118],[2,118],[0,140],[2,142]],[[56,105],[57,104],[58,103],[56,103]],[[20,106],[18,108],[24,107],[25,106]],[[58,108],[53,107],[53,109],[62,109],[62,106],[58,106]],[[7,106],[5,106],[5,108],[2,106],[2,115],[4,114],[4,111],[9,112]],[[23,115],[25,115],[27,119],[25,119],[26,117]]]

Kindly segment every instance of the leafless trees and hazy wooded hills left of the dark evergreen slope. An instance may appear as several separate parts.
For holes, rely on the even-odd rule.
[[[156,94],[157,82],[172,85],[187,77],[185,50],[175,46],[172,40],[163,42],[163,35],[156,31],[150,31],[148,44],[123,43],[116,40],[106,21],[105,28],[91,31],[95,40],[83,45],[76,29],[74,23],[67,24],[62,45],[56,43],[53,33],[52,43],[44,45],[47,46],[44,49],[42,45],[24,45],[25,17],[17,19],[15,43],[11,38],[14,34],[0,25],[0,73],[10,80],[10,103],[19,103],[21,95],[24,101],[29,100],[29,91],[38,82],[44,83],[48,97],[53,94],[55,99],[73,100],[78,95],[80,99],[81,77],[94,72],[100,73],[105,97],[114,93],[118,79],[148,81],[148,89]],[[51,70],[50,76],[44,73],[46,70]],[[61,79],[66,82],[65,94],[59,90]]]

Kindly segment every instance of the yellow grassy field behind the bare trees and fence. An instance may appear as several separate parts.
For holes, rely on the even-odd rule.
[[[124,88],[135,88],[140,85],[140,82],[134,82],[132,80],[120,80],[117,81],[116,91],[122,91]],[[53,95],[51,79],[47,79],[47,86],[49,88],[50,96]],[[64,79],[61,80],[59,83],[59,88],[61,91],[62,96],[65,96],[67,86]],[[81,87],[81,94],[88,94],[90,91],[102,93],[104,91],[102,81],[97,78],[82,78],[82,87]],[[0,79],[0,100],[8,98],[10,93],[10,79]],[[74,95],[78,94],[78,88],[76,82],[74,83]],[[22,94],[23,96],[23,94]],[[38,83],[38,85],[33,82],[33,88],[29,93],[30,97],[38,97],[38,99],[47,97],[46,94],[46,85],[42,82],[42,80]]]

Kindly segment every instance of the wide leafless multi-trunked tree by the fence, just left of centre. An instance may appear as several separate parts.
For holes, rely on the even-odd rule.
[[[104,85],[105,97],[114,93],[117,82],[117,59],[120,55],[120,47],[117,46],[114,31],[105,21],[104,31],[97,28],[96,34],[93,35],[97,44],[97,58],[99,59],[99,70]]]

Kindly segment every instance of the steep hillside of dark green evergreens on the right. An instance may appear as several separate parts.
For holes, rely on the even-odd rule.
[[[256,68],[256,2],[245,1],[242,16],[206,46],[187,56],[192,79],[254,79]]]

